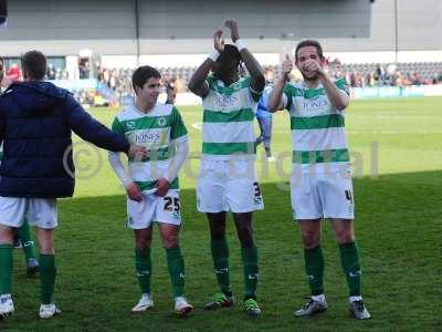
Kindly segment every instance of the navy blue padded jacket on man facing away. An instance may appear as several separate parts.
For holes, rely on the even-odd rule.
[[[12,84],[0,96],[0,196],[71,197],[72,131],[105,149],[129,149],[124,137],[95,121],[66,90],[49,82]]]

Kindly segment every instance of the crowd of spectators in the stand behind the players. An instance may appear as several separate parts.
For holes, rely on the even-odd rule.
[[[168,98],[177,93],[188,92],[188,81],[196,68],[159,68],[164,92],[168,93]],[[366,64],[343,64],[339,60],[327,60],[326,71],[333,77],[345,77],[351,87],[367,86],[408,86],[423,84],[442,84],[442,62],[436,63],[366,63]],[[101,86],[113,95],[113,100],[122,101],[131,97],[131,75],[133,69],[107,69],[97,63],[93,71],[87,72],[87,79],[96,79]],[[264,66],[267,82],[278,79],[278,65]],[[83,79],[85,72],[83,72]],[[6,82],[21,81],[21,70],[17,64],[12,64],[6,70]],[[48,66],[48,80],[70,80],[69,73],[64,69],[54,68],[51,63]],[[293,81],[302,80],[298,71],[292,73]],[[99,97],[99,92],[91,90],[73,91],[74,95],[83,104],[106,104]],[[110,100],[105,95],[104,98]]]

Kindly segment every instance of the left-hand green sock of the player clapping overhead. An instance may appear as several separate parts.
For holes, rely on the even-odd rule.
[[[213,269],[217,276],[218,284],[222,292],[231,292],[230,272],[229,272],[229,243],[225,238],[211,240],[210,249],[212,251]]]

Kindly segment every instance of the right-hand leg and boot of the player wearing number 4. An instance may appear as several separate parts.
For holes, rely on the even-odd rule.
[[[350,312],[356,319],[369,319],[370,314],[365,308],[360,292],[361,269],[355,241],[354,220],[334,218],[332,227],[339,246],[340,263],[349,289]]]

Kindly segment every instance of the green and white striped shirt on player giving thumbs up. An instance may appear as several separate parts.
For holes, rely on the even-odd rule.
[[[348,95],[344,79],[335,84]],[[332,105],[322,84],[316,89],[305,82],[285,84],[283,106],[291,116],[294,165],[349,164],[345,113]]]

